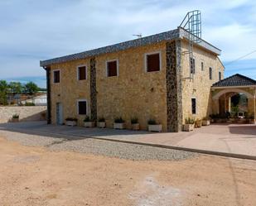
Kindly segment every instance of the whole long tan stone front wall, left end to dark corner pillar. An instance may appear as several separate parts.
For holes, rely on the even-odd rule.
[[[147,73],[145,54],[155,51],[161,52],[162,68]],[[118,60],[118,76],[106,76],[107,60]],[[87,66],[86,80],[77,80],[78,65]],[[58,84],[52,83],[54,69],[60,69]],[[88,115],[104,117],[107,127],[113,127],[115,117],[123,117],[129,128],[131,118],[138,117],[141,128],[146,130],[147,120],[154,118],[167,131],[166,96],[165,42],[51,65],[52,123],[56,123],[56,103],[62,103],[63,119],[77,117],[82,126],[85,116],[78,115],[76,102],[87,99]]]

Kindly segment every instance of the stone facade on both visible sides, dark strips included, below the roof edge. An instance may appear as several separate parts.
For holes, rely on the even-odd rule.
[[[104,117],[107,127],[113,127],[115,117],[123,117],[126,127],[131,128],[131,118],[138,117],[142,130],[153,118],[162,124],[164,132],[181,131],[185,118],[191,116],[191,98],[197,99],[195,117],[211,112],[210,86],[218,80],[219,71],[223,75],[224,70],[217,55],[195,46],[196,74],[193,81],[186,79],[190,70],[188,55],[184,53],[187,45],[183,40],[161,41],[50,65],[51,122],[56,123],[56,103],[61,103],[63,120],[76,117],[82,126],[85,115],[78,115],[77,101],[85,99],[89,117]],[[152,52],[161,55],[160,71],[145,69],[145,56]],[[118,76],[107,77],[108,60],[118,60]],[[205,70],[200,69],[201,61]],[[86,66],[87,79],[77,79],[78,65]],[[209,79],[209,67],[213,68],[213,80]],[[55,69],[60,70],[57,84],[52,81]]]

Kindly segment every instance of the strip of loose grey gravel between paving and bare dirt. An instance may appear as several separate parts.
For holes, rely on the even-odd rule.
[[[77,151],[128,160],[186,160],[199,156],[199,154],[193,152],[176,151],[152,146],[139,146],[92,138],[67,139],[7,131],[0,131],[0,136],[5,137],[9,141],[18,141],[24,146],[45,146],[51,151]]]

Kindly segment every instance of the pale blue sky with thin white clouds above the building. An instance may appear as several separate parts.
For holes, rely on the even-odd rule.
[[[0,0],[0,79],[44,86],[40,60],[169,31],[195,9],[224,64],[256,50],[253,0]],[[236,73],[256,79],[256,52],[226,66],[225,76]]]

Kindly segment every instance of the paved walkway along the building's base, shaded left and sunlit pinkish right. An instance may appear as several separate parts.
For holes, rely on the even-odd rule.
[[[256,160],[256,126],[214,124],[196,128],[193,132],[151,133],[46,125],[46,122],[19,122],[0,124],[1,130],[39,134],[46,137],[102,138],[112,141],[133,141],[154,146],[177,147],[211,154],[226,153],[230,156],[251,156]],[[225,155],[225,154],[224,154]]]

